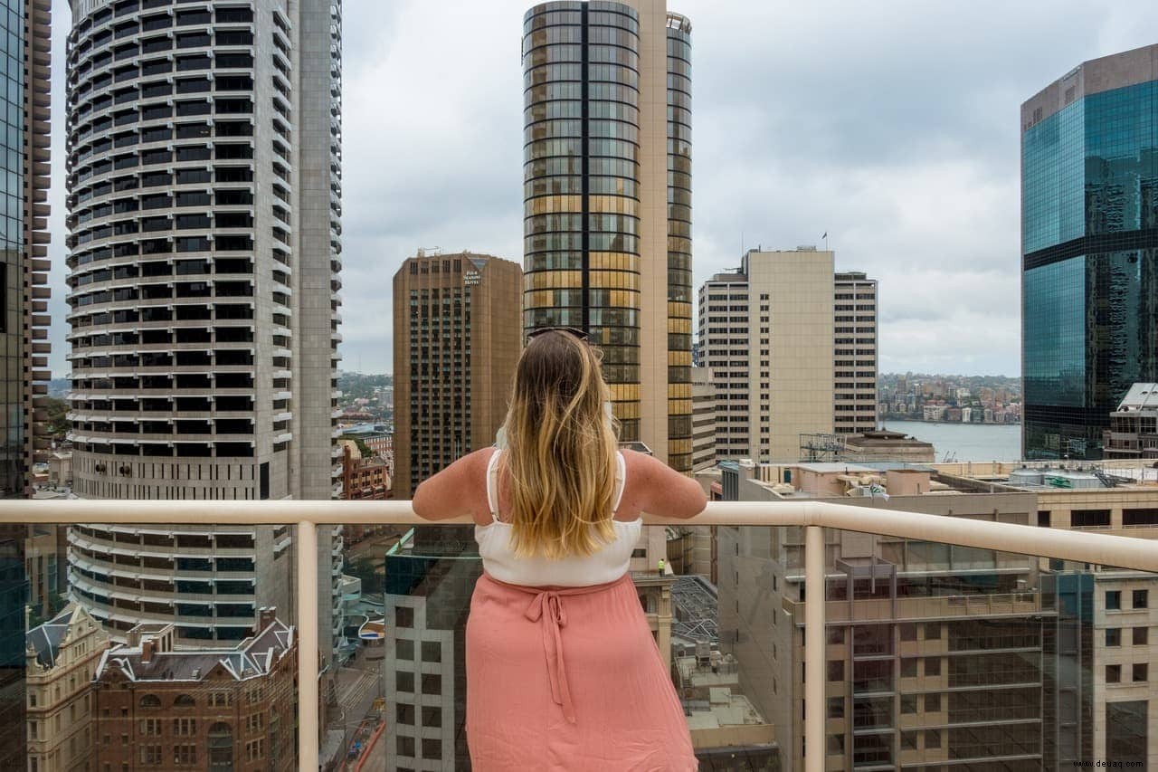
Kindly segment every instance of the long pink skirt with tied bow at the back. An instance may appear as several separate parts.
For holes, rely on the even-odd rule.
[[[580,588],[479,577],[467,620],[478,772],[694,772],[683,708],[630,576]]]

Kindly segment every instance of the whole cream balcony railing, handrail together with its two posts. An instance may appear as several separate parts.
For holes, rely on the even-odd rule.
[[[318,525],[432,525],[418,519],[406,501],[5,501],[0,523],[281,525],[295,524],[298,538],[299,727],[298,762],[316,770],[318,760]],[[437,525],[468,523],[467,518]],[[1158,541],[1029,525],[985,523],[951,516],[870,509],[823,501],[712,503],[692,520],[646,516],[648,525],[804,526],[805,587],[824,585],[823,529],[838,529],[997,549],[1041,558],[1158,573]],[[824,764],[824,609],[805,604],[805,767]]]

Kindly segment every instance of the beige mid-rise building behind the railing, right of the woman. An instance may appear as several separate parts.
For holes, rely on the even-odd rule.
[[[799,465],[765,482],[767,471],[732,465],[724,489],[739,501],[842,496],[846,467]],[[888,472],[892,498],[858,503],[1031,522],[1032,493],[929,496],[930,476]],[[786,479],[794,491],[776,485]],[[717,538],[720,650],[776,727],[784,769],[802,770],[804,532],[719,527]],[[1057,604],[1035,559],[831,530],[824,555],[823,769],[1057,769],[1047,676]]]

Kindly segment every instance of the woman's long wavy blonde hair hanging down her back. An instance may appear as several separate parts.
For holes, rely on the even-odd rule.
[[[616,432],[600,355],[562,330],[533,337],[515,370],[500,472],[516,555],[589,555],[615,538]]]

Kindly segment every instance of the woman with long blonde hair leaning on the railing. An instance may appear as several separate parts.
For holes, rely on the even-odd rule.
[[[541,330],[504,430],[418,487],[419,517],[470,515],[483,576],[467,622],[475,770],[691,771],[683,711],[628,566],[644,511],[691,517],[703,489],[616,451],[598,351]]]

